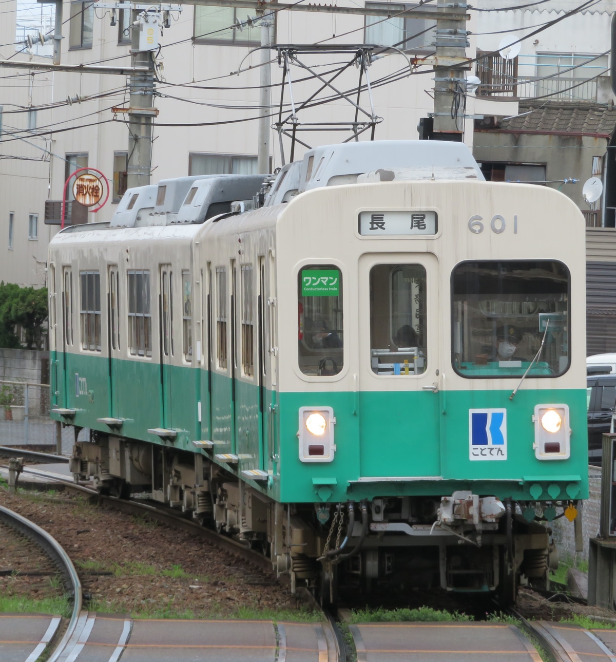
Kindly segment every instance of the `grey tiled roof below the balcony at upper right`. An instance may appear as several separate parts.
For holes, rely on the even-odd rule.
[[[616,107],[580,101],[519,103],[519,115],[502,120],[499,129],[543,133],[611,135],[616,126]]]

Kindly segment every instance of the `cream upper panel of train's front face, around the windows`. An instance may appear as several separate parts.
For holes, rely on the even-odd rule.
[[[431,236],[362,236],[361,211],[437,213]],[[480,230],[480,231],[478,231]],[[564,195],[535,185],[478,181],[406,181],[316,189],[293,199],[277,222],[277,271],[281,355],[296,356],[298,271],[302,265],[338,265],[344,288],[344,369],[328,377],[328,389],[399,390],[399,379],[382,379],[370,367],[362,327],[369,324],[368,289],[362,260],[425,263],[428,269],[427,373],[440,389],[512,389],[519,377],[468,379],[451,359],[451,272],[466,260],[558,260],[570,279],[571,363],[560,377],[527,377],[522,388],[578,388],[586,375],[584,218]],[[423,257],[422,257],[423,256]],[[288,314],[284,314],[288,309]],[[363,340],[362,340],[363,338]],[[415,379],[417,388],[425,379]],[[324,379],[302,377],[295,361],[281,365],[283,390],[319,390]],[[412,389],[410,381],[405,389]],[[361,385],[358,386],[358,385]]]

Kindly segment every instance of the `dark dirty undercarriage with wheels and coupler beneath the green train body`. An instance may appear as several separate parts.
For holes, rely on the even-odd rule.
[[[549,529],[494,496],[282,504],[200,453],[95,431],[73,447],[71,471],[101,493],[150,493],[262,551],[292,591],[306,586],[324,604],[347,592],[440,587],[494,595],[505,606],[521,584],[547,588],[558,563]]]

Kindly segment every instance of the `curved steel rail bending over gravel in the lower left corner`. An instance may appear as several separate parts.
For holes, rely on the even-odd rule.
[[[48,662],[56,662],[64,652],[64,649],[75,632],[77,621],[79,620],[79,614],[81,614],[81,608],[83,607],[79,575],[77,575],[75,566],[66,551],[62,549],[62,546],[55,540],[55,538],[52,538],[52,536],[40,528],[40,526],[36,526],[34,522],[26,520],[26,518],[17,514],[17,512],[13,512],[13,510],[9,510],[9,508],[5,508],[4,506],[0,506],[0,519],[44,549],[47,555],[58,566],[67,591],[73,595],[73,613],[71,614],[71,619],[69,620],[66,632],[60,640],[60,643],[58,643],[56,650],[48,659]]]

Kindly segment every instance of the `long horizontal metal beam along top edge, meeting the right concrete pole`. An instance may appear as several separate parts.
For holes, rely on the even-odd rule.
[[[95,3],[97,6],[99,3]],[[289,9],[290,11],[311,11],[326,14],[358,14],[360,16],[380,16],[384,19],[395,16],[403,19],[427,19],[429,21],[438,21],[447,17],[447,21],[468,21],[470,14],[461,12],[447,13],[437,9],[422,9],[421,7],[412,7],[404,11],[392,11],[391,9],[372,9],[365,7],[340,7],[339,5],[298,5],[279,2],[257,2],[253,0],[190,0],[183,3],[185,5],[209,5],[210,7],[239,7],[240,9],[252,9],[253,11],[263,10],[264,5],[267,11],[280,11]]]

